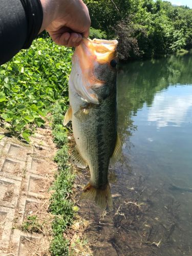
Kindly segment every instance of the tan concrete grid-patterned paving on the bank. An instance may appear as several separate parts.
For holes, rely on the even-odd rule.
[[[0,140],[0,255],[49,255],[48,189],[56,170],[56,148],[49,129],[39,129],[31,140],[30,146],[6,136]],[[36,232],[25,231],[29,216],[41,221]]]

